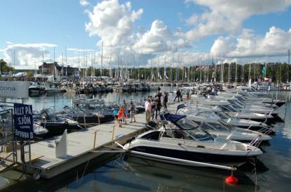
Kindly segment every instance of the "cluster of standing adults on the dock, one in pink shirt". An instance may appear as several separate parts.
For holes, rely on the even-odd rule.
[[[154,98],[152,96],[147,96],[147,101],[144,103],[147,122],[151,119],[157,119],[158,115],[161,113],[162,106],[164,109],[167,108],[168,94],[165,91],[163,92],[163,105],[161,103],[161,96],[162,94],[160,91],[158,91]]]

